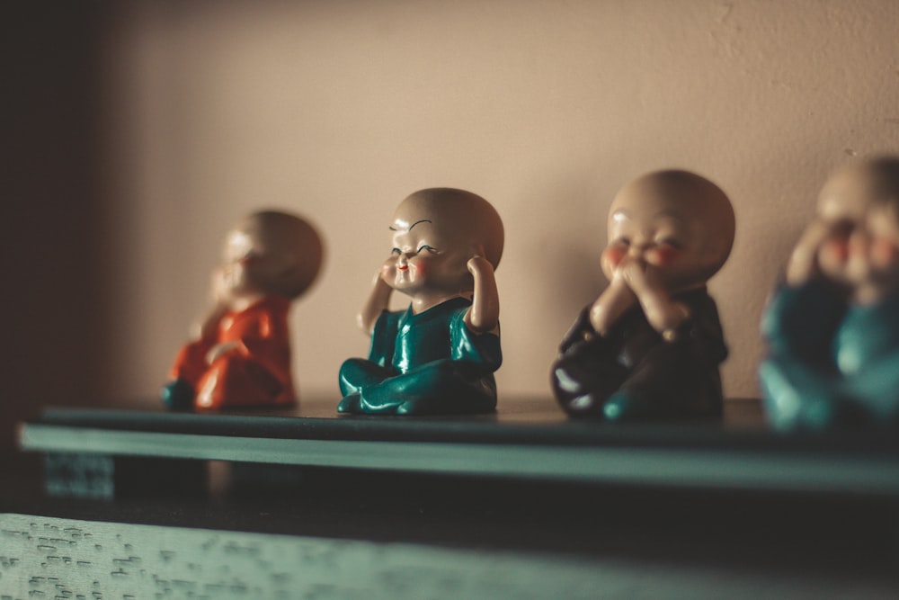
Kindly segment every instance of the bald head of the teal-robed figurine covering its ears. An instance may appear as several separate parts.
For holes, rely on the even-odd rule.
[[[400,202],[390,225],[392,256],[382,276],[410,296],[469,295],[467,262],[483,256],[496,267],[503,255],[503,221],[475,193],[431,188]]]

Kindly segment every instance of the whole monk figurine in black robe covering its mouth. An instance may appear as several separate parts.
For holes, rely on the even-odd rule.
[[[570,416],[720,418],[727,349],[706,283],[734,243],[734,210],[687,171],[637,178],[615,196],[601,255],[609,286],[583,309],[552,368]]]

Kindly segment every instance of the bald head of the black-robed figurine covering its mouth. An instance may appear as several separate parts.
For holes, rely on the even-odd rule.
[[[689,171],[656,171],[625,185],[609,210],[603,273],[625,255],[657,269],[670,293],[701,287],[734,246],[734,209],[716,184]]]

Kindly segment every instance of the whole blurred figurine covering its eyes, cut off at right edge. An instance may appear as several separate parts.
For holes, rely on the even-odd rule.
[[[899,425],[899,157],[832,175],[785,279],[761,323],[770,424]]]

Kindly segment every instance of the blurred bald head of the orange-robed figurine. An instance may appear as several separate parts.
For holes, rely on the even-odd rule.
[[[227,235],[223,279],[235,294],[307,291],[322,264],[322,240],[307,220],[277,210],[245,217]]]

